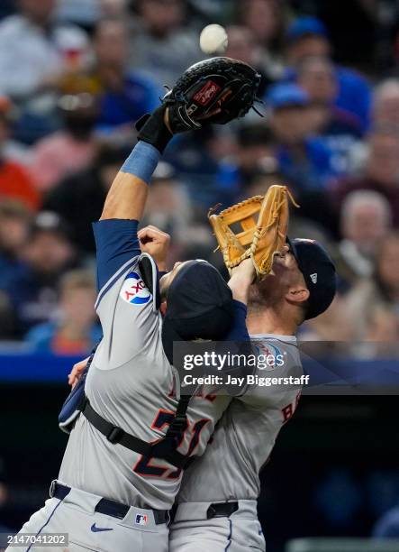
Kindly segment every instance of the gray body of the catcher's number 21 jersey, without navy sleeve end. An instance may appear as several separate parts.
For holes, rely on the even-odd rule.
[[[177,408],[177,372],[161,342],[162,319],[141,279],[137,259],[127,262],[100,291],[96,311],[104,338],[86,379],[93,408],[115,426],[151,442],[163,437]],[[178,450],[201,455],[228,399],[198,396],[187,411],[190,426]],[[59,481],[125,504],[169,509],[181,470],[112,445],[80,416],[68,440]]]

